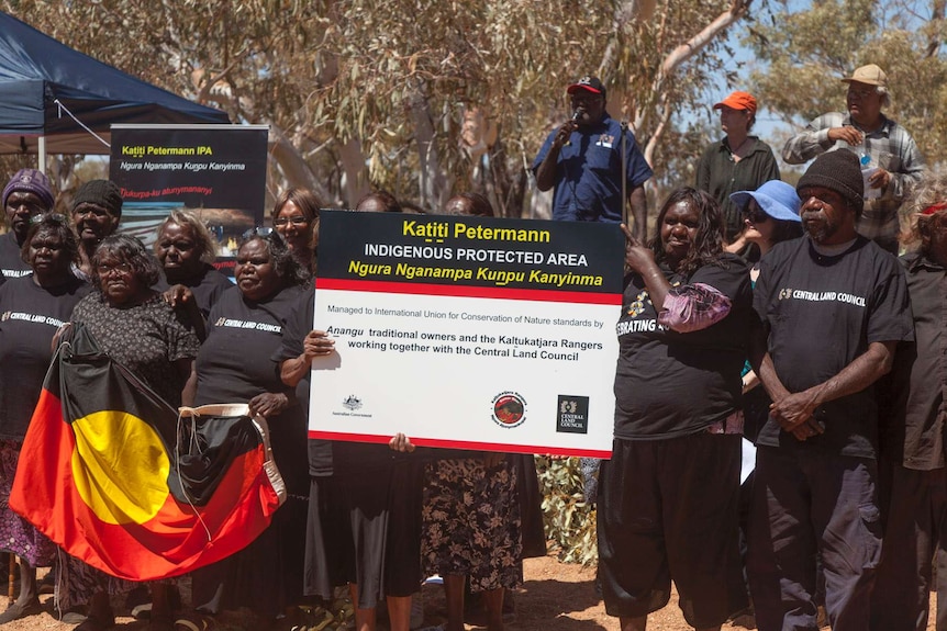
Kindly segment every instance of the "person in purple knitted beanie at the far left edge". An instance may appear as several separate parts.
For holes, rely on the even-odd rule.
[[[53,191],[45,173],[36,169],[20,169],[3,187],[3,209],[7,211],[5,235],[0,237],[0,271],[3,278],[30,275],[30,266],[20,257],[20,248],[30,230],[30,219],[53,210]]]

